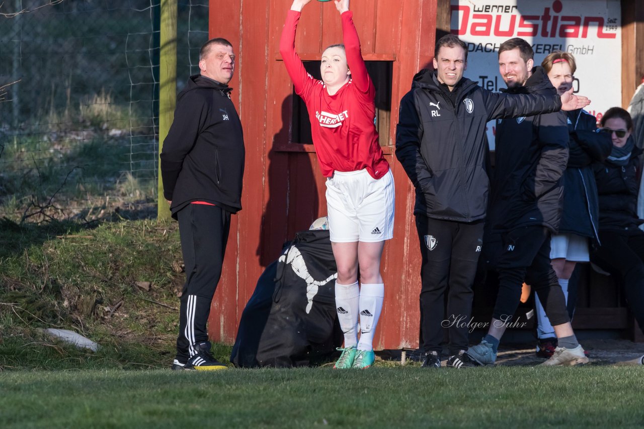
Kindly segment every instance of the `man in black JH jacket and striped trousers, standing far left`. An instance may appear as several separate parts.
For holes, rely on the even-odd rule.
[[[225,369],[210,353],[206,322],[222,275],[231,214],[242,209],[245,149],[228,86],[232,45],[211,39],[200,51],[200,75],[177,97],[162,152],[164,196],[179,221],[186,281],[173,369]]]

